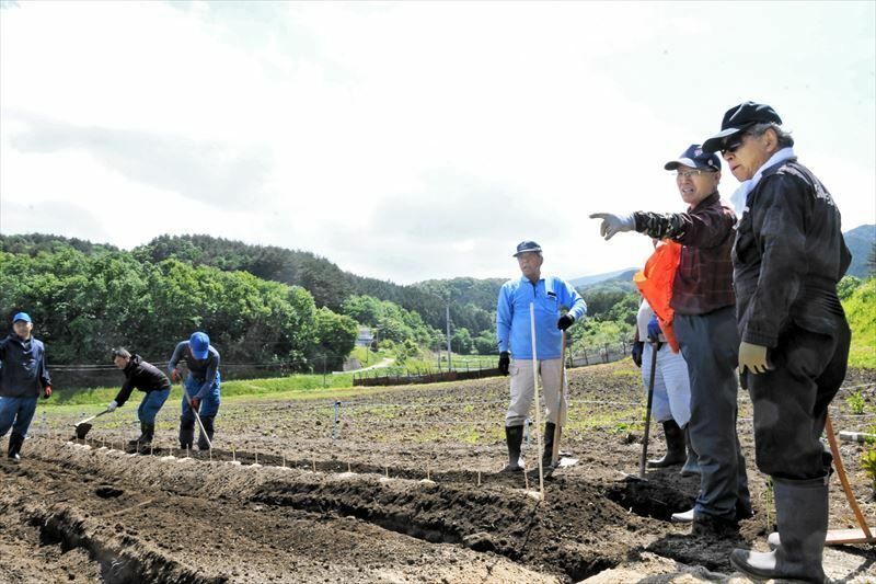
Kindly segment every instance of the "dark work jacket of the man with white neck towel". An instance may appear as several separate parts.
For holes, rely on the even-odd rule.
[[[733,249],[742,341],[774,347],[791,323],[833,334],[846,322],[837,282],[852,255],[830,193],[792,158],[763,172],[746,206]]]

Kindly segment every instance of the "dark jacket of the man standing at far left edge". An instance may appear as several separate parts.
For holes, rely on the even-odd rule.
[[[46,347],[33,336],[22,341],[12,333],[0,341],[0,397],[38,398],[51,385]]]

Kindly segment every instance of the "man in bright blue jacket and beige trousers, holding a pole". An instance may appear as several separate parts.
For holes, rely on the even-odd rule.
[[[508,443],[508,466],[503,472],[523,470],[520,446],[523,442],[523,423],[535,392],[532,373],[532,334],[530,305],[535,312],[535,358],[544,389],[545,424],[542,466],[551,466],[554,431],[565,422],[567,403],[563,388],[560,405],[560,378],[562,332],[587,312],[584,298],[569,284],[556,276],[542,277],[544,262],[541,247],[534,241],[517,245],[517,263],[522,275],[506,282],[499,290],[496,311],[496,336],[499,340],[499,371],[511,376],[511,401],[505,416],[505,437]],[[568,308],[560,314],[560,308]],[[537,404],[538,406],[538,404]]]

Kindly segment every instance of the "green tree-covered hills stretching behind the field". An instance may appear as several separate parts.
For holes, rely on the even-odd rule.
[[[0,316],[28,310],[58,364],[105,363],[126,345],[164,358],[207,331],[227,363],[339,369],[359,327],[397,357],[447,348],[496,354],[496,298],[504,279],[459,277],[411,286],[341,271],[309,252],[208,236],[162,236],[130,252],[56,236],[0,236]],[[632,283],[584,290],[589,314],[577,344],[632,336]],[[5,327],[3,327],[5,329]]]

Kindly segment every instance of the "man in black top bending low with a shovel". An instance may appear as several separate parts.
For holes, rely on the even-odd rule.
[[[137,409],[137,417],[140,420],[140,437],[131,440],[129,445],[139,447],[151,444],[155,435],[155,416],[168,401],[168,396],[171,394],[171,380],[161,369],[145,362],[140,355],[131,355],[124,347],[113,350],[113,363],[125,374],[125,382],[116,394],[116,399],[111,401],[106,409],[114,412],[116,408],[125,405],[135,388],[145,391],[146,397]]]

